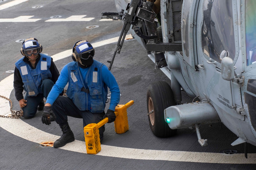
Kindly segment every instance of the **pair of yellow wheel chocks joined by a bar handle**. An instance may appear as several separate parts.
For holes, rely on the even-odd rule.
[[[118,104],[115,107],[115,132],[117,134],[125,133],[127,130],[129,130],[128,125],[128,117],[127,117],[127,108],[132,106],[134,103],[133,100],[129,101],[126,104]],[[99,128],[106,124],[109,121],[109,118],[106,117],[99,123],[91,123],[86,125],[84,130],[84,139],[85,139],[85,145],[86,145],[86,151],[87,154],[97,154],[101,150],[100,146],[100,135],[99,135]]]

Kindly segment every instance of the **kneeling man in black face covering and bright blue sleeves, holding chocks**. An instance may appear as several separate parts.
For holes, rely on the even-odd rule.
[[[93,60],[94,48],[84,41],[73,46],[73,62],[68,63],[60,72],[46,100],[42,123],[49,125],[49,116],[53,115],[63,134],[54,142],[59,148],[74,141],[74,134],[68,125],[68,117],[83,119],[83,127],[90,123],[99,123],[108,117],[108,123],[115,121],[115,107],[120,100],[119,86],[113,74],[99,61]],[[68,83],[67,97],[59,96]],[[108,111],[104,112],[108,87],[111,100]],[[52,110],[51,110],[52,109]],[[104,125],[99,128],[100,141],[103,139]]]

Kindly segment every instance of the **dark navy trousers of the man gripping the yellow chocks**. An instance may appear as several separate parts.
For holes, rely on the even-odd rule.
[[[56,123],[60,126],[67,124],[68,116],[83,119],[83,127],[91,123],[99,123],[105,114],[102,113],[91,113],[90,111],[79,110],[73,101],[67,96],[59,96],[52,104],[52,111],[56,115]],[[100,140],[103,139],[103,133],[105,131],[105,125],[99,128]]]

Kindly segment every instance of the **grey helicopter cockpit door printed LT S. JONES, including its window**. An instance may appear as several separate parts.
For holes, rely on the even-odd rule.
[[[196,45],[198,71],[203,79],[201,91],[217,112],[244,120],[236,110],[242,108],[239,82],[223,80],[221,76],[221,52],[228,51],[233,64],[239,55],[237,1],[199,0],[198,9]],[[221,120],[229,117],[223,115],[219,115]]]

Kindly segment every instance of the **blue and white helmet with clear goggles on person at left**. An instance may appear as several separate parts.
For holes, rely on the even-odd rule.
[[[43,47],[37,42],[36,38],[27,38],[22,43],[23,47],[20,49],[20,53],[23,56],[31,56],[32,54],[38,55],[42,52]]]

